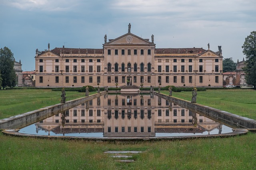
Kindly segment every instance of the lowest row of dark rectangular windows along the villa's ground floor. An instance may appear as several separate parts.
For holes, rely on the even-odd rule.
[[[166,83],[170,82],[170,76],[165,76]],[[192,83],[193,76],[188,76],[188,82]],[[147,78],[151,82],[151,76]],[[39,76],[39,82],[43,83],[43,76]],[[65,82],[69,83],[69,76],[65,76]],[[81,83],[85,82],[85,76],[81,76]],[[133,82],[137,82],[137,76],[133,76]],[[144,83],[144,76],[140,76],[140,82]],[[173,82],[177,83],[177,76],[173,76]],[[199,76],[199,82],[203,82],[203,76]],[[215,82],[219,82],[219,76],[215,76]],[[59,76],[55,76],[55,83],[59,83]],[[77,76],[73,76],[73,83],[77,83]],[[89,76],[89,83],[92,83],[92,76]],[[100,83],[100,76],[97,76],[97,83]],[[108,83],[111,83],[111,76],[108,76]],[[115,76],[115,83],[118,83],[118,76]],[[122,83],[125,83],[125,76],[122,76]],[[131,82],[129,82],[131,83]],[[158,76],[158,83],[162,83],[162,76]],[[181,83],[185,83],[185,76],[181,76]]]

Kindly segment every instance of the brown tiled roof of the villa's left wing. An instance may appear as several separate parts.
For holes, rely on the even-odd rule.
[[[53,53],[59,54],[103,54],[103,49],[75,49],[75,48],[55,48],[51,50]]]

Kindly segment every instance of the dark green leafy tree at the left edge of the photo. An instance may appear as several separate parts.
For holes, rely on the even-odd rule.
[[[14,71],[14,57],[12,51],[7,47],[0,49],[0,74],[3,89],[6,88],[6,86],[15,86],[16,74]]]

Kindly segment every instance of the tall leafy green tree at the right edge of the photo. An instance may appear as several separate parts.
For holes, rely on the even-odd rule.
[[[250,79],[253,78],[251,74],[253,74],[254,70],[252,70],[252,68],[254,68],[254,64],[256,62],[256,31],[252,31],[251,34],[245,38],[242,49],[247,59],[245,61],[246,66],[244,68],[246,73],[246,82],[247,84],[250,84],[250,82],[254,82]]]

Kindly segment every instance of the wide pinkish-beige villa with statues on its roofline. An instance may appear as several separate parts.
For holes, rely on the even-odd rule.
[[[36,87],[222,87],[222,50],[156,48],[154,35],[104,36],[102,49],[36,49]]]

